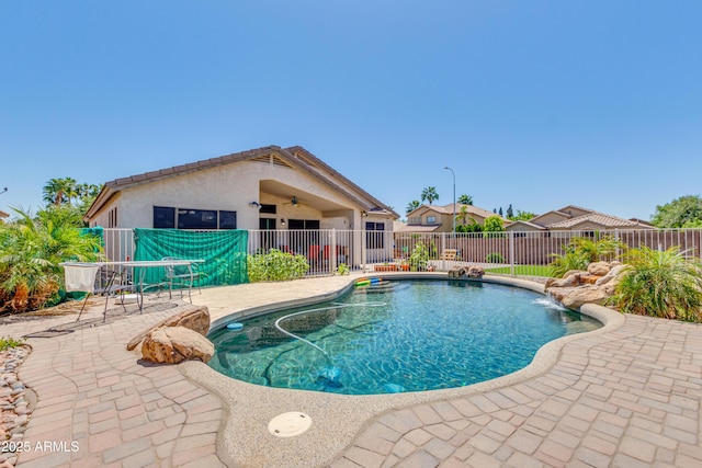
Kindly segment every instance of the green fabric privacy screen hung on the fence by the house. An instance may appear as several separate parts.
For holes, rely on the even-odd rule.
[[[172,256],[204,260],[197,265],[199,286],[230,285],[248,282],[246,269],[249,231],[219,230],[196,232],[180,229],[134,229],[134,260],[161,260]],[[135,272],[137,275],[138,272]],[[163,269],[146,269],[145,283],[165,279]]]

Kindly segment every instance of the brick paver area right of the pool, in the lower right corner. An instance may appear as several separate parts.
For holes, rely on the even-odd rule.
[[[702,327],[629,316],[546,374],[392,411],[331,466],[702,466]]]

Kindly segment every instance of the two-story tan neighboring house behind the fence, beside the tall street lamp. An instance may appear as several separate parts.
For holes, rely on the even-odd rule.
[[[466,218],[465,224],[471,224],[472,219],[478,225],[483,225],[485,219],[490,216],[499,216],[487,209],[479,208],[473,205],[463,205],[456,203],[455,215],[456,226],[464,222],[460,218],[461,209],[465,207]],[[421,205],[419,208],[407,214],[407,226],[397,229],[398,232],[451,232],[453,230],[453,204],[437,206],[437,205]],[[502,218],[505,225],[509,221]]]

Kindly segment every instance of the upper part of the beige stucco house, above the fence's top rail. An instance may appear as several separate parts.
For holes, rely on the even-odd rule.
[[[269,146],[107,182],[84,220],[104,228],[392,230],[397,217],[306,149]]]

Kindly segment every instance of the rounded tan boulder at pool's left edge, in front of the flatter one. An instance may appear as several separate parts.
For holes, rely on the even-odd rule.
[[[151,330],[144,338],[141,356],[159,364],[178,364],[199,359],[208,362],[215,346],[205,336],[184,327],[166,327]]]

